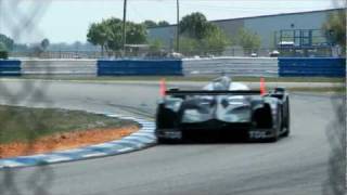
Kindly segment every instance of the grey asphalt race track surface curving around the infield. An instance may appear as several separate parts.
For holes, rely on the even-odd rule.
[[[153,119],[157,84],[0,82],[0,103]],[[329,134],[338,98],[292,94],[292,133],[277,143],[188,143],[13,170],[1,195],[319,195],[336,194]],[[342,170],[339,170],[342,171]],[[344,185],[344,183],[343,183]]]

